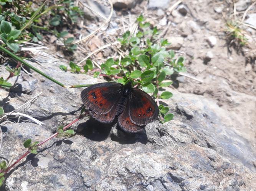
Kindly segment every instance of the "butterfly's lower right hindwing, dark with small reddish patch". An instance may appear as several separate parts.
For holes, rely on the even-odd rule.
[[[138,133],[144,129],[144,126],[138,126],[132,123],[129,117],[129,100],[127,101],[126,108],[118,117],[118,125],[122,130],[128,133]]]

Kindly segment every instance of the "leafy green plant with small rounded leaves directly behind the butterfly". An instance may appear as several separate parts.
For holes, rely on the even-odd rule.
[[[183,65],[184,58],[175,58],[175,53],[166,49],[170,43],[167,39],[158,40],[159,30],[145,22],[142,15],[137,18],[137,23],[139,29],[136,34],[126,31],[118,39],[121,43],[121,49],[127,53],[126,57],[120,61],[109,58],[101,64],[101,71],[94,72],[94,77],[103,75],[109,78],[119,78],[117,82],[122,84],[126,83],[126,76],[136,80],[136,86],[147,93],[152,93],[157,99],[160,121],[165,123],[173,118],[173,114],[167,113],[168,107],[160,105],[159,99],[172,97],[172,92],[164,91],[164,88],[173,83],[170,78],[172,74],[186,71]],[[91,60],[88,59],[86,65],[88,62],[91,63]],[[126,75],[124,77],[121,77],[119,63]],[[79,66],[74,64],[73,68],[71,67],[72,72],[79,72],[80,70],[75,70],[75,67]],[[88,70],[84,71],[87,72]],[[162,92],[160,93],[160,91]]]

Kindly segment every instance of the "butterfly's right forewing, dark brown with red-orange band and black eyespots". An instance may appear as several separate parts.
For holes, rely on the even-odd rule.
[[[129,116],[132,123],[147,125],[157,119],[159,108],[149,94],[138,88],[132,88],[129,102]]]

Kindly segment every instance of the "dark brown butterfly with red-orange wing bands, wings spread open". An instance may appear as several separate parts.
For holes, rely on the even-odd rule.
[[[81,92],[81,98],[92,118],[101,123],[112,123],[118,117],[118,125],[129,133],[142,131],[159,115],[152,97],[132,87],[132,81],[125,85],[115,82],[94,84]]]

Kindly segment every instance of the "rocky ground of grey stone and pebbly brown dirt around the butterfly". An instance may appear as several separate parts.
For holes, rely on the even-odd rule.
[[[126,15],[127,6],[131,15],[147,15],[172,42],[170,48],[187,59],[187,72],[196,80],[178,76],[174,84],[178,88],[167,88],[174,96],[161,100],[175,113],[174,119],[165,124],[155,121],[143,133],[134,135],[123,133],[115,124],[102,125],[84,118],[74,125],[76,136],[52,139],[40,147],[38,155],[28,155],[8,173],[3,189],[254,190],[255,30],[244,28],[248,37],[244,47],[228,43],[224,30],[226,19],[232,18],[233,13],[229,1],[187,0],[171,12],[177,1],[149,0],[137,5],[136,1],[126,1],[131,2],[129,5],[120,2],[113,1],[119,7],[114,11],[115,17]],[[252,3],[237,1],[238,14]],[[253,14],[248,12],[246,19]],[[255,21],[248,23],[253,25]],[[103,35],[95,37],[101,45]],[[94,39],[85,46],[93,51],[99,45],[95,42]],[[53,55],[53,47],[49,49]],[[111,49],[97,57],[110,54]],[[91,75],[64,73],[58,68],[63,62],[64,59],[36,56],[30,63],[68,85],[104,81]],[[2,73],[3,65],[0,71],[1,76],[7,77]],[[58,125],[68,124],[79,115],[81,88],[64,89],[30,72],[33,76],[21,71],[18,79],[12,78],[10,82],[16,80],[16,86],[10,92],[0,89],[0,106],[10,112],[43,92],[17,111],[44,125],[30,123],[26,118],[17,123],[14,116],[1,123],[3,159],[17,159],[24,152],[26,139],[41,141]]]

